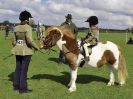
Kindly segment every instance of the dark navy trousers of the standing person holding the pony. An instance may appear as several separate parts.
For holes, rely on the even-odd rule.
[[[16,69],[13,86],[19,90],[27,90],[27,72],[32,55],[16,55]]]

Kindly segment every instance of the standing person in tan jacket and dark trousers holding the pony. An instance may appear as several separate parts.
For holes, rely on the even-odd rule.
[[[39,50],[32,38],[32,28],[29,19],[32,15],[28,11],[22,11],[19,15],[20,25],[15,27],[12,40],[12,54],[16,55],[16,69],[14,72],[13,88],[19,93],[28,93],[27,72],[33,54],[32,49]]]

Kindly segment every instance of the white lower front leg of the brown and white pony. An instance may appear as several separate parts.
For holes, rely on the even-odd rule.
[[[73,92],[73,91],[76,91],[76,79],[77,79],[77,67],[76,69],[71,69],[71,80],[70,80],[70,83],[68,84],[68,86],[70,87],[69,88],[69,91],[70,92]]]

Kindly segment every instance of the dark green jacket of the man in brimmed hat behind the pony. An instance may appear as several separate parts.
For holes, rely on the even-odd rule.
[[[67,26],[68,28],[70,28],[70,30],[72,31],[72,33],[74,33],[75,38],[77,38],[77,34],[78,34],[78,28],[76,27],[76,25],[72,22],[72,21],[65,21],[61,24],[61,26]]]

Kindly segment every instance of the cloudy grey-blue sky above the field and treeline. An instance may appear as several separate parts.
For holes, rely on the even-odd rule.
[[[60,25],[72,14],[78,27],[88,27],[85,21],[95,15],[98,26],[107,29],[133,27],[133,0],[0,0],[0,22],[20,22],[19,14],[27,10],[37,23]]]

